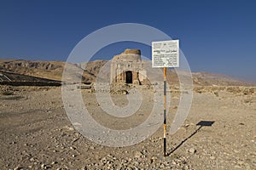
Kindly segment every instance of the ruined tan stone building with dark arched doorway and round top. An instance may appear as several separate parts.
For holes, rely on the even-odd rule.
[[[143,69],[143,60],[139,49],[125,49],[125,52],[113,57],[111,61],[111,82],[143,84],[147,71]]]

